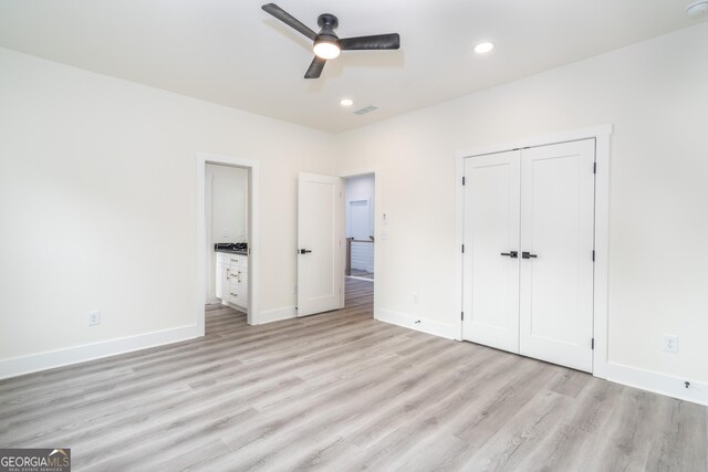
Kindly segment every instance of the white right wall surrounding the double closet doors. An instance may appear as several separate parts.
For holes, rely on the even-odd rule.
[[[701,23],[340,135],[342,174],[382,169],[382,311],[459,326],[456,151],[612,123],[610,361],[708,381],[706,44]]]

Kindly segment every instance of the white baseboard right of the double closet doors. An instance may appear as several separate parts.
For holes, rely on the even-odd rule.
[[[708,406],[708,384],[706,382],[614,363],[607,364],[607,380]],[[690,382],[688,388],[686,388],[686,381]]]

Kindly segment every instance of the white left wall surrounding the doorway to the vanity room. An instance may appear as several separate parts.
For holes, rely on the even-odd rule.
[[[294,306],[298,172],[334,174],[330,135],[2,49],[0,104],[0,367],[195,325],[197,151],[261,161],[261,310]]]

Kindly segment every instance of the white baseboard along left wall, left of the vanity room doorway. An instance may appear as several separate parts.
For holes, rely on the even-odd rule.
[[[190,325],[45,353],[30,354],[28,356],[12,357],[0,360],[0,379],[115,356],[117,354],[147,349],[148,347],[163,346],[199,336],[200,333],[197,325]]]

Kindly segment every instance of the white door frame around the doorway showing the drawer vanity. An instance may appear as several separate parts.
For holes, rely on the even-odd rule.
[[[197,160],[197,331],[198,336],[205,334],[205,304],[206,300],[206,273],[207,273],[207,185],[206,166],[216,164],[222,166],[241,167],[249,170],[249,217],[248,217],[248,290],[249,303],[247,322],[249,325],[260,324],[260,253],[259,253],[259,224],[260,224],[260,161],[241,157],[227,156],[214,153],[198,151]],[[209,264],[210,265],[210,264]]]

